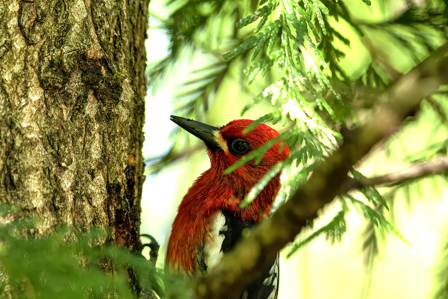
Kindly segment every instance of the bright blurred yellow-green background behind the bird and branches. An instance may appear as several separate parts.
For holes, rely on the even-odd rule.
[[[327,2],[333,1],[323,1]],[[350,98],[347,103],[355,111],[345,114],[345,122],[341,122],[350,127],[371,115],[377,101],[369,98],[374,88],[386,88],[446,42],[447,9],[444,1],[339,2],[348,15],[335,17],[330,9],[325,16],[326,28],[329,33],[333,30],[336,38],[323,39],[319,46],[323,53],[327,47],[325,60],[334,74],[333,86],[344,90],[338,85],[343,82],[350,91],[341,92]],[[256,23],[239,29],[235,22],[258,7],[250,0],[151,1],[141,232],[154,235],[161,244],[160,268],[164,267],[177,206],[193,181],[210,166],[201,142],[170,122],[170,114],[222,126],[239,118],[258,119],[285,103],[280,97],[273,106],[265,99],[241,117],[246,103],[279,80],[284,70],[274,64],[249,86],[243,70],[250,65],[253,50],[248,56],[223,59],[224,53],[254,34]],[[274,10],[267,24],[278,15]],[[317,16],[312,19],[318,24]],[[362,89],[354,88],[358,86]],[[367,177],[381,175],[447,154],[446,99],[441,94],[423,102],[418,115],[410,118],[399,134],[374,149],[357,170]],[[289,124],[272,127],[285,132]],[[337,123],[332,126],[337,130]],[[285,171],[290,175],[292,170]],[[447,176],[378,190],[390,208],[381,212],[408,242],[372,227],[362,213],[352,209],[345,215],[346,232],[340,241],[330,242],[323,234],[289,259],[288,248],[284,249],[279,298],[442,298],[438,292],[448,277],[444,259],[448,244]],[[283,196],[288,191],[283,190]],[[358,193],[352,195],[362,199]],[[338,210],[336,201],[326,206],[315,228],[327,223]]]

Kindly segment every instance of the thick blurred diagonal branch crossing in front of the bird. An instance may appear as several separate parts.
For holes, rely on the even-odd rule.
[[[382,139],[396,133],[414,115],[421,101],[440,85],[448,84],[448,44],[401,76],[388,90],[378,93],[383,103],[369,122],[343,134],[344,143],[318,163],[310,179],[272,217],[251,230],[222,263],[193,281],[196,298],[226,299],[261,273],[276,253],[314,219],[324,205],[342,194],[352,166]]]

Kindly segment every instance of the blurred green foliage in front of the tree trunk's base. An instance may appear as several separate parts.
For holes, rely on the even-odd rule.
[[[26,238],[23,234],[42,220],[12,220],[14,210],[0,206],[0,294],[6,296],[1,298],[136,298],[141,290],[164,294],[156,269],[138,253],[110,245],[106,231],[77,235],[65,226],[43,238]],[[132,277],[138,290],[131,291]]]

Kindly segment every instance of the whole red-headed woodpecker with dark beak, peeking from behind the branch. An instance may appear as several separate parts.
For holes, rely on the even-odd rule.
[[[251,120],[234,120],[222,127],[178,116],[171,116],[171,120],[204,141],[210,158],[210,169],[196,179],[182,199],[168,242],[166,267],[192,277],[219,263],[221,256],[241,238],[244,229],[250,229],[268,216],[280,188],[280,174],[269,181],[249,206],[240,208],[239,204],[274,164],[289,156],[289,148],[279,150],[279,142],[266,151],[258,164],[248,161],[224,174],[224,169],[278,137],[278,132],[259,124],[244,134]],[[277,254],[262,275],[232,299],[276,299],[278,282]]]

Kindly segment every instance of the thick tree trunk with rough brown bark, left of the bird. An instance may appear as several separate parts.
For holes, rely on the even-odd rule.
[[[149,0],[0,0],[0,203],[139,250]]]

